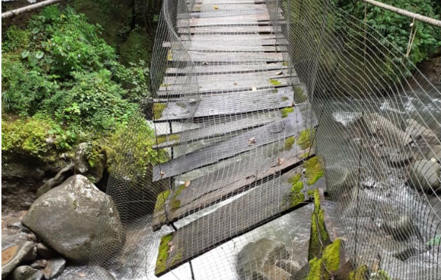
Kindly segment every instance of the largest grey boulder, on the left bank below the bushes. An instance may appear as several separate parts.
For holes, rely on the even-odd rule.
[[[105,238],[96,242],[95,249],[111,255],[125,242],[125,231],[111,197],[82,175],[71,176],[38,197],[22,222],[45,244],[80,263],[89,261],[99,226]]]

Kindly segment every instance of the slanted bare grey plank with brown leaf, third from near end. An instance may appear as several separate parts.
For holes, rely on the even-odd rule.
[[[193,153],[188,153],[185,155],[185,159],[179,157],[155,165],[153,167],[153,181],[183,174],[260,146],[283,141],[286,137],[293,136],[297,132],[300,121],[302,121],[300,110],[294,110],[294,113],[290,113],[287,118],[244,132],[214,146],[207,146]],[[248,139],[253,138],[255,144],[248,145]]]

